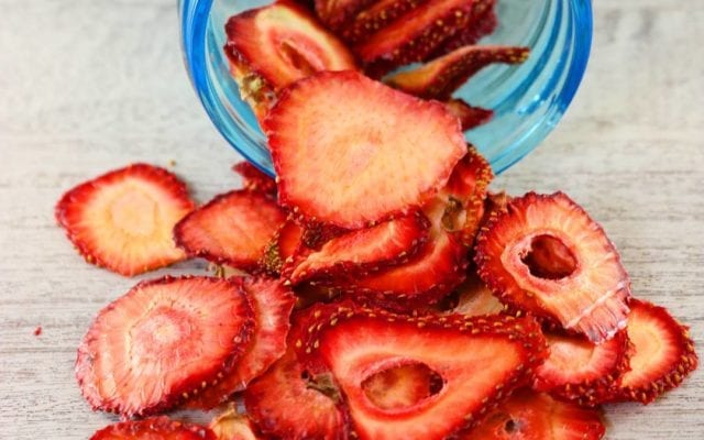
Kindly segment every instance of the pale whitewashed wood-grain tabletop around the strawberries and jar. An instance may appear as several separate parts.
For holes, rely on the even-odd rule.
[[[669,307],[702,348],[704,2],[594,7],[593,56],[570,111],[494,186],[568,191],[622,251],[635,295]],[[82,263],[55,227],[55,201],[98,173],[169,160],[206,200],[239,185],[228,166],[239,157],[190,89],[173,0],[0,0],[0,439],[86,439],[113,418],[81,399],[76,346],[135,280]],[[703,439],[704,374],[606,418],[612,440]]]

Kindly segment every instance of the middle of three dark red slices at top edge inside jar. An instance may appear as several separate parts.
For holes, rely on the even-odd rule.
[[[399,16],[428,0],[380,0],[359,12],[340,31],[342,40],[350,44],[364,40],[387,26]]]

